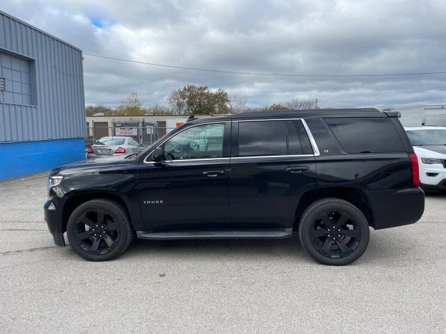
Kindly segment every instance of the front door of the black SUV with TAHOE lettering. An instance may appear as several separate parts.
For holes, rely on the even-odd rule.
[[[150,230],[228,228],[231,122],[185,127],[138,170],[139,207]]]

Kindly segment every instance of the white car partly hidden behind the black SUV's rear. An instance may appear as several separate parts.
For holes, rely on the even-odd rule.
[[[446,190],[446,127],[406,127],[420,166],[421,187]]]

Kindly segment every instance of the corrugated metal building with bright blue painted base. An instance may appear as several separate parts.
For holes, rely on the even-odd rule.
[[[0,11],[0,180],[84,159],[82,50]]]

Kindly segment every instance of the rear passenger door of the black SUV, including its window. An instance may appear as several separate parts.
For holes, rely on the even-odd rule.
[[[316,184],[314,160],[300,119],[233,120],[233,228],[291,228],[298,198]]]

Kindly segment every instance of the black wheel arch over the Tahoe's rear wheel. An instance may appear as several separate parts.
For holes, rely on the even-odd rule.
[[[300,216],[302,216],[305,208],[307,208],[310,204],[312,204],[312,202],[315,202],[316,200],[321,200],[322,198],[328,197],[340,198],[341,200],[351,202],[351,204],[355,205],[355,207],[360,209],[360,211],[364,214],[364,216],[367,218],[367,221],[369,222],[369,225],[372,228],[374,227],[375,222],[374,215],[372,213],[372,207],[364,191],[348,186],[322,187],[311,189],[303,193],[302,196],[300,196],[300,200],[295,211],[294,227],[298,225]]]

